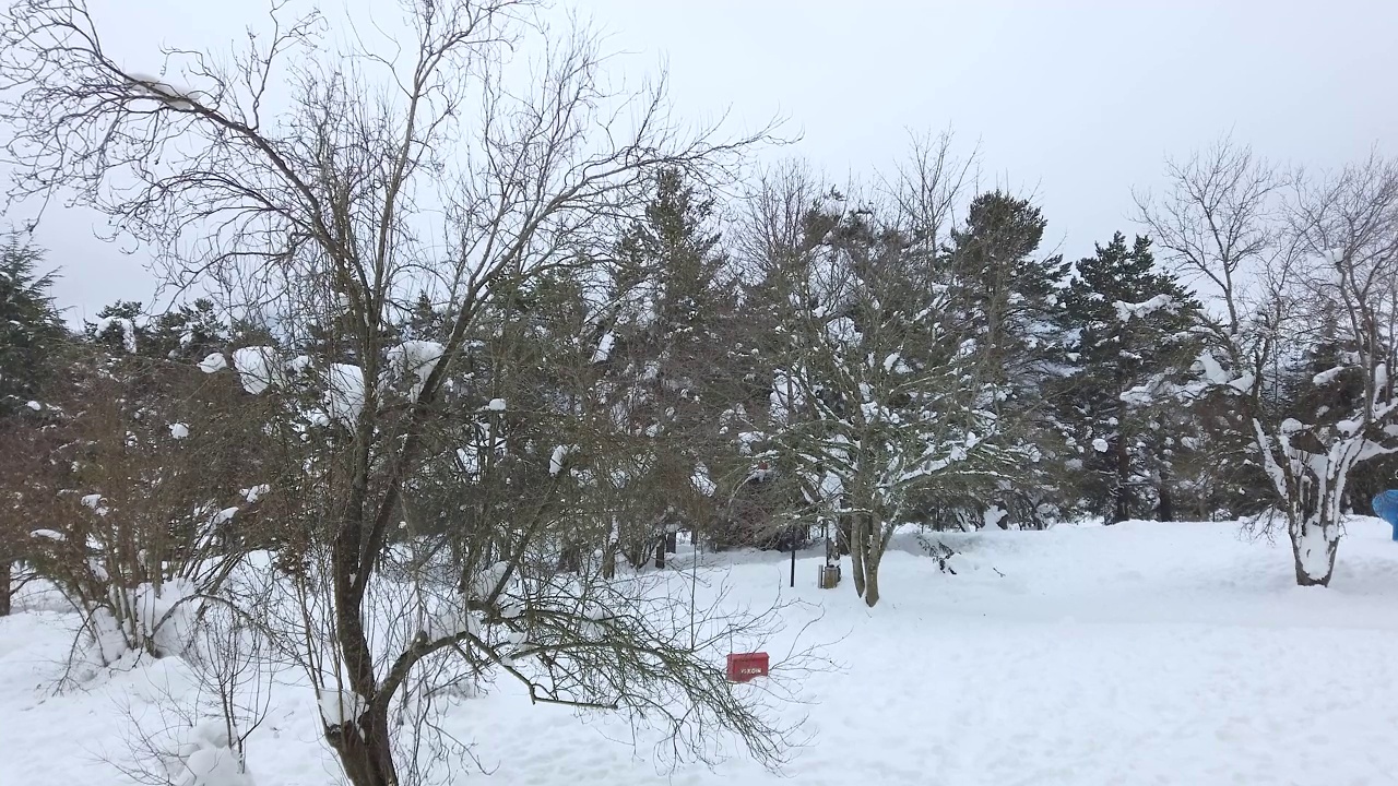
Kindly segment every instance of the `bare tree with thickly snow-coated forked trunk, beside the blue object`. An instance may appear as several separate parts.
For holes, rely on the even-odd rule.
[[[1206,348],[1187,393],[1233,403],[1286,522],[1297,583],[1325,586],[1350,470],[1398,450],[1398,166],[1371,157],[1332,176],[1297,175],[1283,193],[1283,178],[1222,143],[1170,176],[1169,207],[1142,200],[1144,221],[1174,262],[1219,288],[1212,315],[1201,312]],[[1296,368],[1324,348],[1335,366],[1288,394]],[[1306,390],[1329,394],[1318,403]]]

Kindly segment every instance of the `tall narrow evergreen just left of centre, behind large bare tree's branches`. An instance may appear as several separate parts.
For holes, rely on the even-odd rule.
[[[644,490],[649,509],[636,510],[619,547],[632,564],[651,551],[664,562],[664,543],[686,505],[707,490],[723,396],[716,385],[726,358],[720,336],[733,313],[734,288],[723,276],[727,259],[713,229],[714,203],[682,172],[657,176],[644,215],[617,245],[607,306],[600,316],[596,361],[604,371],[621,428],[633,441],[633,467],[617,473]],[[700,492],[702,494],[702,492]]]

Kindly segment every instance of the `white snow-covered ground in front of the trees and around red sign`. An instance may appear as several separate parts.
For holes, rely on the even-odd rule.
[[[811,741],[780,775],[744,759],[667,772],[653,740],[530,706],[502,681],[453,710],[492,772],[456,782],[1398,783],[1398,543],[1381,522],[1350,522],[1334,586],[1309,590],[1285,543],[1240,540],[1230,523],[946,541],[962,551],[955,576],[899,540],[875,610],[847,583],[815,589],[815,551],[795,589],[783,555],[707,569],[735,600],[808,601],[784,635],[804,628],[836,663],[784,710],[807,717]],[[126,716],[151,722],[186,689],[166,659],[55,695],[70,625],[38,600],[0,620],[0,785],[120,783],[103,759],[127,755]],[[309,688],[278,687],[250,738],[256,783],[337,783],[319,726]]]

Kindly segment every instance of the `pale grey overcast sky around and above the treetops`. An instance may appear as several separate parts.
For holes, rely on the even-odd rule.
[[[389,4],[393,0],[369,0]],[[983,182],[1032,193],[1069,259],[1131,231],[1131,189],[1166,154],[1223,133],[1274,159],[1331,168],[1398,154],[1398,1],[577,0],[626,69],[668,62],[677,108],[780,113],[836,180],[886,166],[913,131],[979,147]],[[94,0],[109,42],[219,46],[264,0]],[[155,56],[152,49],[152,59]],[[50,211],[38,232],[70,317],[150,301],[140,253],[101,217]]]

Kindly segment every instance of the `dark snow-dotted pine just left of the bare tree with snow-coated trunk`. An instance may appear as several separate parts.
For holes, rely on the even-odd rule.
[[[1109,523],[1152,509],[1172,517],[1169,467],[1179,446],[1176,429],[1166,428],[1169,411],[1130,407],[1123,396],[1188,368],[1186,330],[1198,308],[1174,276],[1156,269],[1148,238],[1128,246],[1121,232],[1078,260],[1064,292],[1072,373],[1054,403],[1076,452],[1078,490]]]

